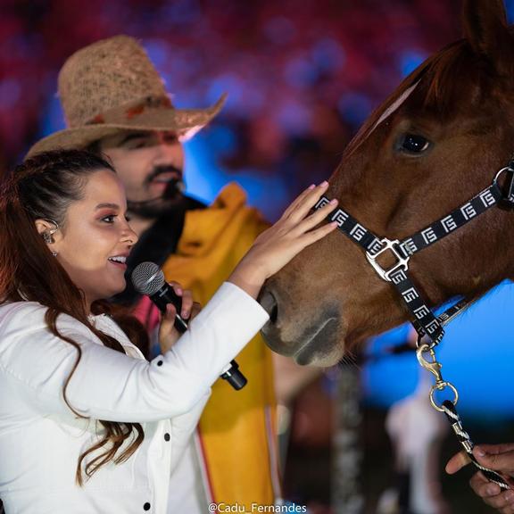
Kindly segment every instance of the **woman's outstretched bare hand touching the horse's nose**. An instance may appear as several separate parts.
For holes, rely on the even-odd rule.
[[[255,239],[228,281],[257,298],[267,278],[277,273],[303,248],[332,232],[337,227],[336,222],[316,227],[335,209],[336,200],[310,214],[327,187],[328,183],[323,182],[318,187],[311,186],[303,191],[287,207],[280,220]]]

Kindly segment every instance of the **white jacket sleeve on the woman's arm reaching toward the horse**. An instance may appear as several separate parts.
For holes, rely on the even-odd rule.
[[[47,329],[46,308],[15,305],[21,308],[4,319],[0,311],[0,373],[16,380],[38,410],[74,416],[62,388],[77,350]],[[61,316],[58,328],[82,351],[66,397],[73,409],[93,419],[145,422],[184,414],[204,400],[221,369],[267,320],[259,303],[225,283],[170,352],[147,362],[98,344],[87,327]]]

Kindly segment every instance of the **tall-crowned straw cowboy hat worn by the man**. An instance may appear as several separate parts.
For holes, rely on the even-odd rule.
[[[176,109],[159,73],[136,39],[116,36],[71,55],[59,73],[67,129],[33,145],[27,158],[57,148],[85,148],[120,129],[170,130],[192,137],[225,103]]]

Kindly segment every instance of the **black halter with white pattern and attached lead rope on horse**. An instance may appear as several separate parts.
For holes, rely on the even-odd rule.
[[[498,184],[498,180],[502,175],[505,175],[505,181],[501,187]],[[322,196],[314,208],[319,209],[327,203],[329,203],[328,198]],[[353,243],[360,245],[365,251],[366,258],[377,272],[377,275],[386,280],[386,282],[391,282],[396,288],[403,303],[410,312],[411,323],[419,336],[417,351],[419,363],[435,376],[435,386],[430,391],[432,405],[436,410],[446,414],[447,419],[452,423],[452,429],[457,435],[460,444],[468,453],[470,460],[485,474],[485,477],[500,485],[503,489],[510,489],[507,481],[500,474],[492,469],[484,468],[478,464],[473,456],[473,443],[467,432],[462,429],[455,407],[458,401],[457,390],[451,383],[443,380],[440,371],[441,364],[435,359],[434,348],[444,337],[444,325],[466,309],[470,302],[460,300],[460,302],[455,303],[439,316],[435,316],[434,312],[428,308],[427,302],[419,294],[408,272],[410,257],[415,253],[424,250],[430,245],[434,245],[435,242],[452,234],[452,232],[463,227],[469,221],[474,220],[495,205],[508,209],[514,208],[514,162],[509,162],[505,168],[496,173],[491,186],[486,187],[478,195],[444,216],[444,218],[435,221],[412,236],[402,239],[402,241],[376,236],[368,228],[365,228],[355,220],[351,214],[340,208],[332,212],[327,217],[327,220],[336,221],[338,229],[344,236],[347,236]],[[388,269],[383,268],[377,261],[377,258],[386,252],[391,253],[394,257],[394,264]],[[424,343],[423,341],[425,340],[428,340],[428,342]],[[435,402],[435,392],[442,391],[446,387],[452,389],[454,399],[452,402],[444,401],[441,405],[438,405]]]

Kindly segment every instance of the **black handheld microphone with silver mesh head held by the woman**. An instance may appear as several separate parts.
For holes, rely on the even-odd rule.
[[[154,262],[141,262],[134,271],[132,271],[132,284],[140,294],[146,294],[150,297],[161,312],[166,312],[168,303],[172,303],[177,310],[175,315],[175,328],[183,334],[187,330],[187,322],[180,317],[182,308],[182,298],[175,294],[173,288],[164,279],[162,269]],[[228,381],[230,386],[236,391],[242,389],[246,385],[246,377],[239,371],[239,365],[236,361],[230,361],[230,364],[223,369],[221,378]]]

